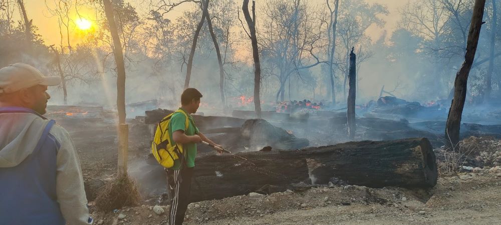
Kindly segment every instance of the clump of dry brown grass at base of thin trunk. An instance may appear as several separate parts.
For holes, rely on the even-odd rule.
[[[114,179],[103,186],[97,197],[96,207],[101,211],[111,211],[124,206],[137,206],[141,195],[135,182],[129,176]]]

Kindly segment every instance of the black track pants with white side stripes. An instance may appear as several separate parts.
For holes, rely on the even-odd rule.
[[[184,221],[184,213],[188,207],[188,198],[191,189],[191,177],[193,168],[183,166],[181,169],[167,169],[167,180],[172,201],[170,203],[169,224],[181,225]]]

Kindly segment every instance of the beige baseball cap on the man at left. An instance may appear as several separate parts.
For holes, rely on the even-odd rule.
[[[44,76],[37,68],[26,63],[14,63],[0,69],[0,93],[12,93],[35,85],[55,86],[59,76]]]

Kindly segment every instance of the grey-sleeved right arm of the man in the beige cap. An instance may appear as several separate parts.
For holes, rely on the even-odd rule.
[[[64,129],[63,129],[64,130]],[[80,161],[70,134],[56,133],[61,142],[57,153],[56,195],[63,217],[71,225],[90,224]]]

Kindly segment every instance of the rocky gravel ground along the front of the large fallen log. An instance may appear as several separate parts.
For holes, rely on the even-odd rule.
[[[441,177],[430,190],[315,186],[191,203],[185,224],[495,224],[501,166]],[[167,224],[168,205],[93,212],[98,224]]]

